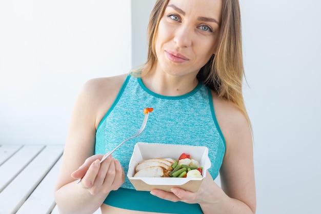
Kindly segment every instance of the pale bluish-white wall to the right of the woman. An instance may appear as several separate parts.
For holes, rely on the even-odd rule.
[[[321,3],[240,4],[257,213],[321,213]]]

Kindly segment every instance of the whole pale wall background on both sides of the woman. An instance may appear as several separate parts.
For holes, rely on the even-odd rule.
[[[81,86],[145,62],[154,2],[0,1],[0,144],[64,144]],[[240,5],[257,213],[321,213],[321,3]]]

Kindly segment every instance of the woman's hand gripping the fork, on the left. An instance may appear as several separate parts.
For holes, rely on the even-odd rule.
[[[110,155],[103,163],[103,154],[95,154],[71,174],[74,179],[82,179],[81,185],[91,194],[109,193],[117,190],[125,181],[124,169],[118,160]]]

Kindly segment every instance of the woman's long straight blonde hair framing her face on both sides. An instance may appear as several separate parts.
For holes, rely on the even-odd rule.
[[[157,61],[157,29],[168,2],[169,0],[157,0],[151,12],[147,29],[147,62],[136,70],[136,74],[141,77],[145,76]],[[242,94],[244,76],[239,3],[238,0],[223,0],[217,51],[199,70],[197,79],[214,90],[220,98],[236,104],[251,126]]]

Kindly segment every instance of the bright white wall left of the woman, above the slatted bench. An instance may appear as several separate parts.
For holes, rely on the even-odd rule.
[[[64,144],[89,79],[131,68],[131,2],[0,1],[0,144]]]

